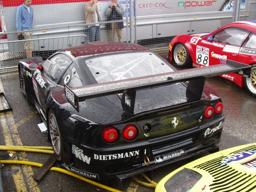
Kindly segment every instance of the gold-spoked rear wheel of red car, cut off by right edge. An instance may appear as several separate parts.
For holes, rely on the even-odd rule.
[[[256,97],[256,64],[252,64],[251,75],[244,77],[244,86],[253,97]]]

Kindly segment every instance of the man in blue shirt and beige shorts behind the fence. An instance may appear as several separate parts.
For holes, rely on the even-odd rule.
[[[31,2],[32,0],[25,0],[25,2],[18,7],[16,14],[17,35],[20,36],[22,33],[25,39],[32,39],[33,36],[32,31],[28,31],[33,29],[33,8],[30,6]],[[24,41],[23,44],[27,58],[31,58],[33,42]]]

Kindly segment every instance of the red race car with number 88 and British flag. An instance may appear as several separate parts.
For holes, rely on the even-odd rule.
[[[168,57],[179,67],[204,67],[227,59],[251,65],[249,78],[234,73],[221,76],[256,97],[256,20],[229,23],[212,33],[178,35],[169,45]]]

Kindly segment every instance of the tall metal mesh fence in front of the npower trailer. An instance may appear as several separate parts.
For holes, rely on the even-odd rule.
[[[0,4],[0,72],[15,68],[17,61],[26,57],[25,40],[17,40],[16,28],[16,12],[22,2],[3,0]],[[86,24],[85,5],[89,2],[33,0],[33,56],[47,58],[57,50],[86,44],[90,40],[89,28],[95,24],[100,24],[100,41],[109,42],[111,31],[107,24],[120,22],[109,21],[105,14],[111,1],[99,0],[101,22]],[[256,0],[118,0],[117,4],[124,13],[121,41],[149,49],[164,49],[179,34],[211,32],[232,21],[256,19]]]

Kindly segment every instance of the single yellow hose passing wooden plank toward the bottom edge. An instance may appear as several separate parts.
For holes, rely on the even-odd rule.
[[[41,167],[43,165],[43,164],[40,164],[40,163],[29,162],[29,161],[9,161],[9,160],[1,160],[1,163],[2,164],[24,164],[24,165],[32,165],[32,166],[37,166],[37,167]],[[85,178],[83,176],[77,175],[76,173],[70,172],[70,171],[65,170],[65,169],[61,169],[61,168],[58,168],[58,167],[52,167],[50,170],[51,171],[57,171],[57,172],[65,173],[67,175],[76,177],[77,179],[83,180],[83,181],[85,181],[87,183],[91,183],[92,185],[95,185],[97,187],[106,189],[108,191],[122,192],[122,191],[119,191],[117,189],[108,187],[106,185],[102,185],[102,184],[100,184],[100,183],[98,183],[96,181],[89,180],[89,179],[87,179],[87,178]]]

